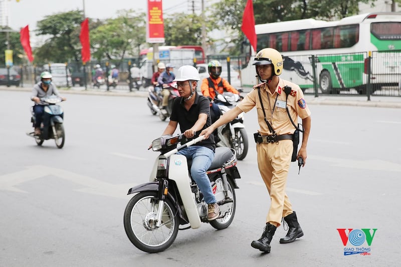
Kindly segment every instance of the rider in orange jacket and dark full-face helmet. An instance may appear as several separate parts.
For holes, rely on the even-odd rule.
[[[200,85],[200,92],[212,102],[211,116],[212,123],[214,123],[220,117],[220,109],[213,103],[216,95],[223,94],[225,91],[240,95],[240,92],[232,87],[228,81],[220,77],[222,74],[222,64],[219,61],[212,60],[209,62],[208,71],[210,77],[203,79],[202,85]]]

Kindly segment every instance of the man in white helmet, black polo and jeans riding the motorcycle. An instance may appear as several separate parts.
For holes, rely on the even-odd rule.
[[[174,81],[177,82],[180,97],[174,100],[170,121],[162,135],[172,135],[179,124],[181,133],[190,141],[198,137],[196,132],[199,133],[211,125],[210,101],[196,92],[199,80],[199,73],[196,68],[185,65],[178,69]],[[215,140],[213,135],[210,135],[196,145],[177,152],[177,154],[184,155],[187,159],[192,160],[190,174],[208,204],[209,220],[216,219],[220,214],[219,205],[216,203],[210,180],[206,174],[215,157],[215,149]]]

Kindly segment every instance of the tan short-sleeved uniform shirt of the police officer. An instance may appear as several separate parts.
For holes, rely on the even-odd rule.
[[[305,119],[310,116],[310,110],[306,104],[302,90],[298,85],[280,79],[273,94],[270,92],[265,83],[259,86],[266,118],[276,131],[277,135],[292,134],[295,130],[290,119],[288,118],[284,86],[290,86],[292,89],[291,93],[288,95],[287,106],[294,123],[297,124],[298,116],[301,119]],[[249,92],[246,97],[237,105],[237,107],[244,112],[250,111],[255,106],[258,113],[260,134],[271,135],[272,133],[269,131],[269,128],[264,120],[264,114],[258,95],[258,86],[255,86],[254,90]],[[274,111],[272,111],[273,107]]]

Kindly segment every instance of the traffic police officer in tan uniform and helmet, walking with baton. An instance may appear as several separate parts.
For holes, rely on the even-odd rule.
[[[248,112],[256,106],[260,127],[258,133],[255,134],[258,167],[269,191],[271,205],[262,236],[258,240],[252,241],[251,245],[263,252],[270,252],[270,242],[276,228],[281,224],[282,217],[289,228],[286,236],[280,239],[280,243],[290,243],[303,236],[297,215],[292,210],[291,202],[285,193],[294,149],[293,133],[296,129],[287,113],[287,107],[293,122],[298,121],[298,116],[302,119],[304,131],[301,148],[296,154],[296,158],[302,157],[303,166],[305,166],[307,158],[306,146],[311,118],[299,86],[279,78],[283,71],[283,58],[277,50],[262,49],[257,53],[253,65],[256,66],[257,77],[262,83],[254,86],[254,90],[248,93],[241,103],[226,112],[200,135],[209,136],[219,126],[232,121],[241,112]],[[284,91],[289,87],[291,89],[290,91],[286,90],[287,95]]]

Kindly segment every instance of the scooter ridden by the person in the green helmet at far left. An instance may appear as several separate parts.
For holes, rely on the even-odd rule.
[[[65,141],[65,132],[63,125],[64,111],[60,105],[62,99],[57,96],[50,96],[46,98],[41,98],[41,101],[47,103],[44,107],[44,121],[41,125],[41,134],[35,135],[34,132],[27,133],[27,135],[34,137],[38,146],[41,146],[45,140],[54,139],[56,146],[62,148]],[[35,127],[36,117],[34,113],[34,108],[31,107],[31,122]]]

